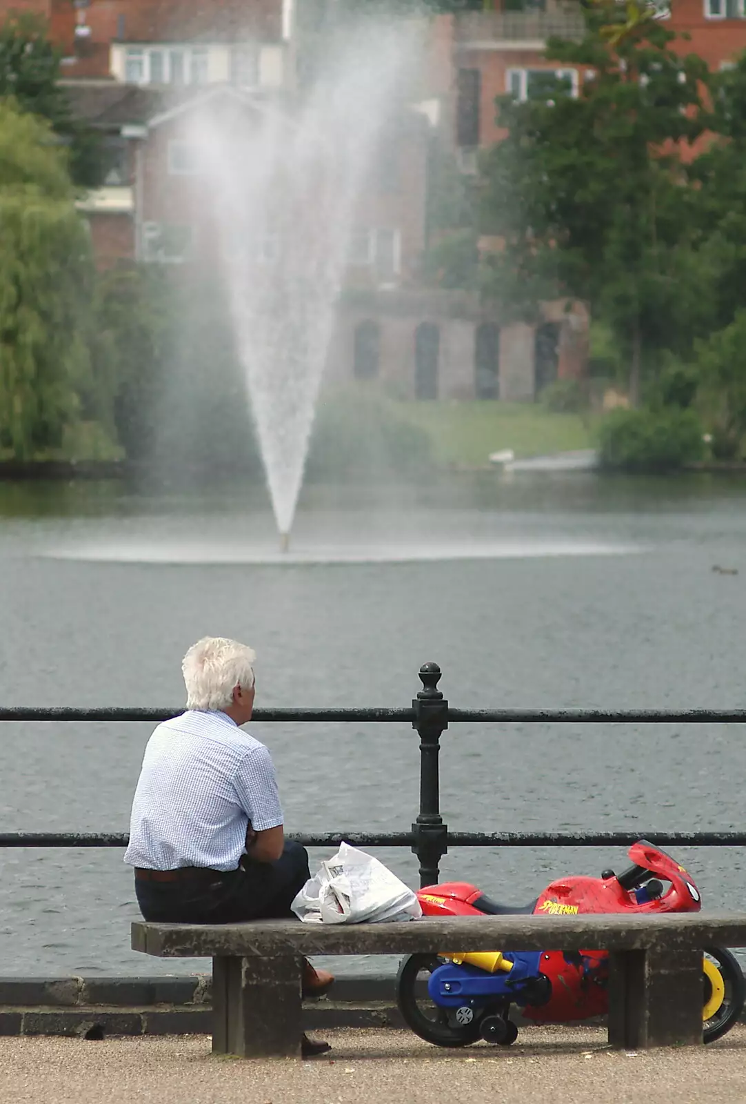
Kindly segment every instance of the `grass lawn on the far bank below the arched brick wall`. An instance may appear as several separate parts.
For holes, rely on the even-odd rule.
[[[593,448],[600,418],[553,414],[539,403],[397,402],[402,421],[425,429],[438,464],[483,467],[490,453],[512,448],[516,457]]]

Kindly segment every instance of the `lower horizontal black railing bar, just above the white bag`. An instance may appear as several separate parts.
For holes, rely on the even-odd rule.
[[[288,832],[303,847],[411,847],[412,832]],[[746,831],[448,832],[449,847],[626,847],[644,838],[678,847],[746,847]],[[127,847],[127,832],[0,832],[3,847]]]

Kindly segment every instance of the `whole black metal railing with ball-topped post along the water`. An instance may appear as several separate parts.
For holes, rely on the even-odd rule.
[[[335,847],[342,839],[358,847],[411,847],[419,860],[420,885],[437,882],[440,859],[449,847],[604,847],[626,846],[639,832],[449,832],[440,816],[440,736],[449,723],[572,724],[743,724],[746,710],[598,710],[598,709],[451,709],[438,690],[437,664],[419,669],[422,690],[411,709],[257,709],[256,721],[270,722],[406,722],[419,735],[419,813],[408,832],[296,832],[306,847]],[[0,721],[149,721],[178,716],[183,709],[0,709]],[[746,832],[646,832],[661,846],[746,847]],[[0,832],[0,847],[126,847],[126,832]]]

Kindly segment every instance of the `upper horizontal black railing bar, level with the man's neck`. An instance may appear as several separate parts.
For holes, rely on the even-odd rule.
[[[0,709],[0,721],[166,721],[180,709]],[[746,724],[746,709],[449,709],[449,722],[481,724]],[[412,723],[412,709],[257,709],[255,721]]]

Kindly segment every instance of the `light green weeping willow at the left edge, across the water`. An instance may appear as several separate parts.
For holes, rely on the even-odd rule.
[[[92,390],[93,265],[67,156],[45,121],[0,102],[0,449],[58,448]]]

